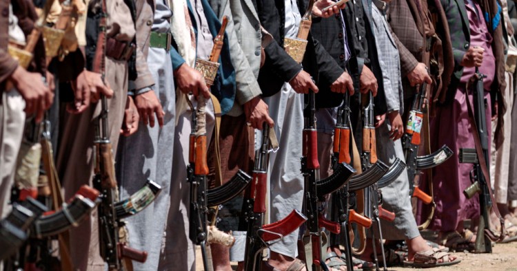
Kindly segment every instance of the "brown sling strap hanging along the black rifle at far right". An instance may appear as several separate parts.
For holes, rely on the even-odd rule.
[[[468,85],[467,85],[468,86]],[[468,90],[468,87],[467,87]],[[465,91],[465,100],[467,102],[467,109],[469,111],[469,120],[472,124],[472,130],[474,135],[474,144],[476,145],[476,154],[478,155],[478,161],[481,168],[481,171],[483,172],[483,176],[485,177],[485,182],[487,183],[488,187],[488,193],[490,194],[490,199],[492,201],[492,210],[494,210],[494,213],[496,213],[496,216],[499,219],[499,222],[501,224],[501,234],[499,236],[499,241],[503,241],[506,235],[506,228],[505,228],[505,219],[501,216],[499,213],[499,209],[497,208],[497,202],[494,199],[494,192],[492,191],[491,184],[490,184],[490,177],[487,170],[487,162],[485,161],[485,155],[483,155],[483,148],[481,147],[481,140],[478,135],[478,126],[476,124],[476,120],[474,119],[474,111],[472,110],[472,105],[470,104],[468,91]],[[486,234],[486,233],[485,233]],[[480,238],[480,237],[478,237]]]

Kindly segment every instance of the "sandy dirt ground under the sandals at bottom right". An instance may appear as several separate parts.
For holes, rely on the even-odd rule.
[[[433,271],[517,271],[517,242],[497,244],[494,246],[491,254],[472,254],[457,252],[461,262],[442,268],[432,268]],[[196,270],[203,270],[203,261],[201,261],[201,250],[199,247],[196,251]],[[236,263],[232,264],[232,268],[236,270]],[[420,270],[413,268],[389,268],[390,271],[398,270]]]

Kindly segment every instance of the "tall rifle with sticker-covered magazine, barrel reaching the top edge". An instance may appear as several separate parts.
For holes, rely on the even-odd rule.
[[[101,19],[99,21],[99,36],[97,38],[97,51],[95,52],[93,72],[101,74],[105,80],[105,48],[106,48],[106,1],[101,0]],[[94,188],[101,193],[101,204],[99,204],[99,246],[101,257],[108,263],[108,270],[132,269],[130,260],[145,262],[147,252],[129,248],[119,235],[124,233],[124,222],[117,217],[116,206],[118,200],[117,184],[114,171],[114,160],[112,145],[108,136],[108,100],[101,95],[101,114],[96,120],[95,139],[94,139]],[[145,189],[145,188],[144,188]],[[154,199],[152,189],[145,190],[151,192],[146,200],[132,202],[134,210],[145,208]],[[143,192],[143,191],[142,191]],[[138,194],[138,193],[137,193]],[[141,198],[139,195],[138,198]],[[140,206],[140,204],[144,204]],[[128,205],[126,205],[128,206]],[[141,207],[141,208],[140,208]],[[136,211],[134,212],[136,213]],[[124,264],[123,264],[124,260]],[[125,265],[125,266],[123,266]]]

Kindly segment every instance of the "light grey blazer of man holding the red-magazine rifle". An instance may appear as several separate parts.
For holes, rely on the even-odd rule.
[[[262,94],[256,78],[261,65],[261,27],[251,0],[209,0],[220,20],[228,17],[226,34],[235,68],[236,103],[228,115],[243,113],[241,105]]]

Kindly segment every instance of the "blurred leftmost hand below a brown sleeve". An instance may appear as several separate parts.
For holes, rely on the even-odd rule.
[[[27,72],[18,66],[11,74],[12,84],[25,99],[27,114],[36,114],[36,122],[43,120],[43,114],[52,105],[54,93],[43,83],[41,74]]]

